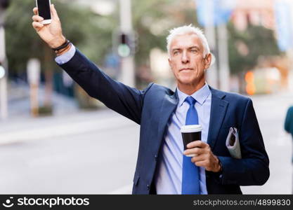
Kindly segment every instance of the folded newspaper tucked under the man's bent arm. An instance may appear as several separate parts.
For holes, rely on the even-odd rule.
[[[230,127],[228,137],[226,139],[226,147],[233,158],[241,159],[240,142],[237,128]]]

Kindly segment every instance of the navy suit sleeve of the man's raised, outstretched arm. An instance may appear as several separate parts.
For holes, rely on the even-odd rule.
[[[76,50],[69,62],[60,65],[70,77],[77,82],[89,96],[100,100],[105,106],[120,113],[122,116],[141,123],[141,111],[145,90],[137,90],[119,83],[98,69],[79,50]]]

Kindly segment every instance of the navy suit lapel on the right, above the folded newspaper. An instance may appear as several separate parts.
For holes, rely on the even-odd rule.
[[[228,107],[228,102],[223,100],[225,97],[224,92],[214,90],[211,88],[211,116],[209,118],[209,134],[207,137],[207,143],[211,147],[211,150],[214,148],[214,144],[219,135],[223,119],[226,115],[226,110]]]

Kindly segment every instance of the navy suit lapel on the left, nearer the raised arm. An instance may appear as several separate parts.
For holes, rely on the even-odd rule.
[[[158,118],[160,118],[158,130],[157,130],[159,145],[161,144],[161,141],[163,139],[164,131],[168,123],[168,120],[171,117],[171,114],[176,109],[177,104],[178,104],[177,90],[172,95],[169,95],[169,94],[165,95],[162,102],[162,106],[159,109],[159,114],[158,114]]]

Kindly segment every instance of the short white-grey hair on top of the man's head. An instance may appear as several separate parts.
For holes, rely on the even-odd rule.
[[[202,32],[202,29],[198,27],[193,27],[193,25],[185,25],[182,27],[177,27],[174,29],[171,29],[169,31],[169,35],[167,36],[167,50],[168,55],[171,56],[171,42],[175,38],[175,36],[178,35],[184,35],[184,34],[195,34],[200,38],[200,41],[202,41],[202,46],[204,47],[204,57],[210,53],[209,50],[209,44],[207,43],[207,38],[204,36],[204,33]]]

